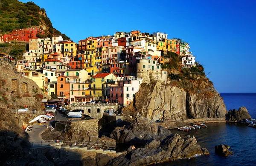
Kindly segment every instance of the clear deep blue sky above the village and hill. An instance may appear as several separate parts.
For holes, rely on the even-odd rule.
[[[77,43],[132,30],[184,39],[218,92],[256,93],[254,0],[20,1],[44,8],[53,27]]]

